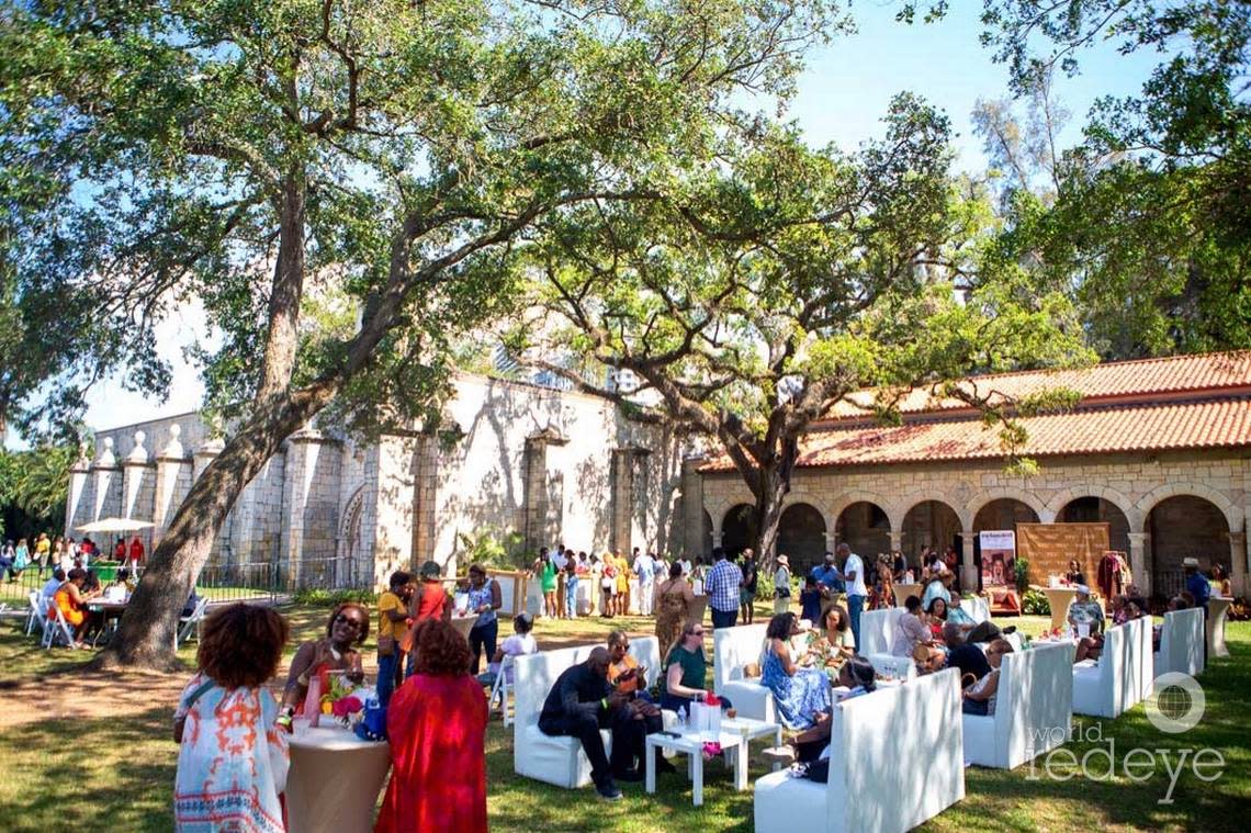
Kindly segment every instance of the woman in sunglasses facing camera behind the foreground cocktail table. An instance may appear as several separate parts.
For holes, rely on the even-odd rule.
[[[322,693],[328,694],[338,685],[348,690],[365,680],[359,647],[369,635],[369,610],[357,602],[344,602],[330,612],[325,623],[325,638],[305,642],[291,658],[283,692],[283,724],[304,712],[304,697],[309,683],[320,679]]]

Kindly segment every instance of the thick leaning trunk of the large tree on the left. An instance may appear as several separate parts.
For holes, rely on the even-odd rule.
[[[290,396],[270,399],[226,443],[178,508],[121,617],[121,627],[93,667],[176,667],[174,634],[179,612],[209,559],[218,530],[265,460],[324,408],[338,389],[339,383],[320,383]]]

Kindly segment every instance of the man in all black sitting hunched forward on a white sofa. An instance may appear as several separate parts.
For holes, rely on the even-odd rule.
[[[539,730],[550,735],[570,735],[582,742],[590,760],[590,777],[595,790],[608,800],[617,800],[622,792],[613,777],[641,780],[631,764],[643,752],[646,727],[633,719],[628,708],[631,695],[608,684],[608,649],[595,648],[585,662],[572,665],[557,678],[539,713]],[[612,762],[604,753],[599,729],[612,729]]]

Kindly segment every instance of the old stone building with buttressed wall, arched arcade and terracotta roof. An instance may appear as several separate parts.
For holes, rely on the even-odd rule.
[[[1246,592],[1251,514],[1251,351],[981,376],[1020,398],[1066,386],[1068,413],[1023,420],[1040,472],[1005,470],[995,429],[957,400],[913,391],[903,424],[873,422],[871,394],[802,443],[779,552],[796,568],[836,542],[862,554],[956,545],[972,580],[976,534],[1017,523],[1107,522],[1140,587],[1168,593],[1181,560],[1230,568]],[[291,584],[367,585],[428,558],[454,565],[484,530],[590,550],[711,553],[746,547],[749,493],[723,459],[612,405],[543,385],[462,375],[442,429],[377,443],[305,428],[244,490],[211,564],[271,565]],[[68,530],[123,515],[156,540],[221,450],[196,414],[103,430],[73,469]],[[684,459],[686,455],[686,459]],[[73,532],[68,532],[73,534]]]

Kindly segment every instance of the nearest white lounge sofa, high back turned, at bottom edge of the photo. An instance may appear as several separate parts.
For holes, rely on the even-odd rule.
[[[788,770],[756,782],[756,833],[902,833],[965,797],[955,669],[881,688],[833,710],[829,782]]]

